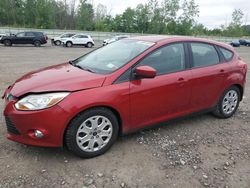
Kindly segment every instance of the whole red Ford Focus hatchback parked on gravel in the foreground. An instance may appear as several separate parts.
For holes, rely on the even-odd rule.
[[[203,110],[232,116],[246,72],[246,63],[222,43],[166,36],[120,40],[9,86],[7,137],[36,146],[65,144],[80,157],[94,157],[119,133]]]

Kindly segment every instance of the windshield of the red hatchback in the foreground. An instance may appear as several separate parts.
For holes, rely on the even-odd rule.
[[[84,55],[72,63],[84,70],[108,74],[127,64],[153,45],[152,42],[120,40]]]

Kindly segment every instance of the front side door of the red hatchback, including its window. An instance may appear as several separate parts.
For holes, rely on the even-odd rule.
[[[145,57],[137,66],[156,69],[153,79],[130,82],[131,126],[167,120],[188,111],[191,94],[191,72],[186,69],[184,44],[161,47]],[[132,127],[131,127],[132,128]]]

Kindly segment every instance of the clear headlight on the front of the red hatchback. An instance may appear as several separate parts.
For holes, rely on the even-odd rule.
[[[17,101],[15,107],[18,110],[41,110],[54,106],[68,95],[69,92],[32,94]]]

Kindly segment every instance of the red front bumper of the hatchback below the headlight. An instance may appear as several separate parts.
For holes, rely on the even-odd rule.
[[[39,111],[18,111],[14,101],[7,103],[4,116],[7,125],[7,138],[27,145],[60,147],[63,145],[64,130],[69,116],[61,107],[55,105]],[[34,131],[44,133],[44,137],[35,137]]]

